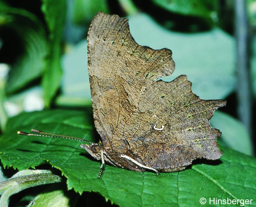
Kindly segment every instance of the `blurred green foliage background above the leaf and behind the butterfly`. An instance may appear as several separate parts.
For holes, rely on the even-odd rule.
[[[202,99],[226,99],[210,121],[220,142],[255,155],[256,1],[237,2],[0,0],[1,133],[23,111],[91,106],[86,37],[103,11],[127,17],[138,44],[172,50],[163,80],[185,74]]]

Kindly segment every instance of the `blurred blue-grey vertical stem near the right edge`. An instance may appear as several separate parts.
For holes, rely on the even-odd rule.
[[[252,137],[252,97],[248,70],[248,19],[245,0],[235,0],[235,34],[237,44],[237,111],[238,117]]]

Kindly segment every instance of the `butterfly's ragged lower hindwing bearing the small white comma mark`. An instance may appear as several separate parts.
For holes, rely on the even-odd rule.
[[[221,133],[209,125],[209,119],[214,110],[225,102],[200,99],[191,92],[186,76],[180,76],[171,83],[155,84],[158,89],[163,89],[157,97],[152,97],[156,102],[149,100],[156,108],[144,109],[141,130],[128,141],[135,156],[144,165],[163,171],[169,168],[166,171],[175,171],[196,158],[218,159],[222,154],[216,137]],[[176,90],[179,96],[175,95]],[[134,120],[133,116],[131,120]]]

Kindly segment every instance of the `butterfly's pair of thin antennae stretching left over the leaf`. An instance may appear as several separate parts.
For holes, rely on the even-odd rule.
[[[48,133],[48,132],[42,132],[36,129],[32,129],[32,132],[36,133],[27,133],[27,132],[22,132],[22,131],[18,131],[17,134],[18,135],[25,135],[25,136],[39,136],[39,137],[56,137],[56,138],[64,138],[64,139],[69,139],[69,140],[77,140],[77,141],[81,141],[81,142],[88,142],[90,144],[92,144],[93,142],[87,141],[87,140],[82,140],[80,138],[77,137],[71,137],[71,136],[66,136],[66,135],[58,135],[58,134],[53,134],[53,133]]]

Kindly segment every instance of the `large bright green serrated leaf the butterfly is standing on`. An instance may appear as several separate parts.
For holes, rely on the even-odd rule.
[[[208,202],[210,198],[255,200],[256,159],[226,147],[221,148],[220,161],[197,161],[182,172],[157,176],[106,165],[98,179],[100,162],[90,158],[79,141],[16,135],[18,130],[37,128],[95,141],[90,111],[51,110],[11,118],[0,137],[1,162],[19,170],[50,163],[67,177],[68,189],[99,192],[120,206],[199,206],[201,197]]]

